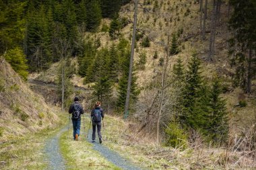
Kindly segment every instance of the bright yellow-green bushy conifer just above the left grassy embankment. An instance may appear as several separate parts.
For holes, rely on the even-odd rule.
[[[19,47],[7,50],[5,59],[10,63],[13,70],[24,80],[28,78],[28,65],[26,65],[26,56]]]

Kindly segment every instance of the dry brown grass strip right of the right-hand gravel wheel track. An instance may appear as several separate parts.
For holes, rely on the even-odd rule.
[[[186,149],[158,146],[156,137],[137,132],[141,124],[106,116],[104,144],[146,169],[253,169],[255,151],[206,146],[200,136]]]

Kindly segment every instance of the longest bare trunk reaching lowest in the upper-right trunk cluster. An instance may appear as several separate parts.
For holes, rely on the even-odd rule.
[[[209,46],[208,61],[211,61],[212,60],[212,56],[214,56],[215,33],[216,33],[216,0],[213,1],[211,36],[210,36],[210,46]]]

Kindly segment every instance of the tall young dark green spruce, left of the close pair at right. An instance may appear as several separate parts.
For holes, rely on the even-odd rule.
[[[193,54],[189,62],[182,101],[185,115],[181,116],[180,120],[191,128],[205,132],[209,127],[207,108],[204,108],[207,104],[207,89],[203,86],[200,65],[199,58]]]

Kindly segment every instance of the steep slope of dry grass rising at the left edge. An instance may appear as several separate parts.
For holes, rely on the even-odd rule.
[[[11,66],[0,62],[0,142],[38,132],[59,121],[40,95],[31,91]]]

